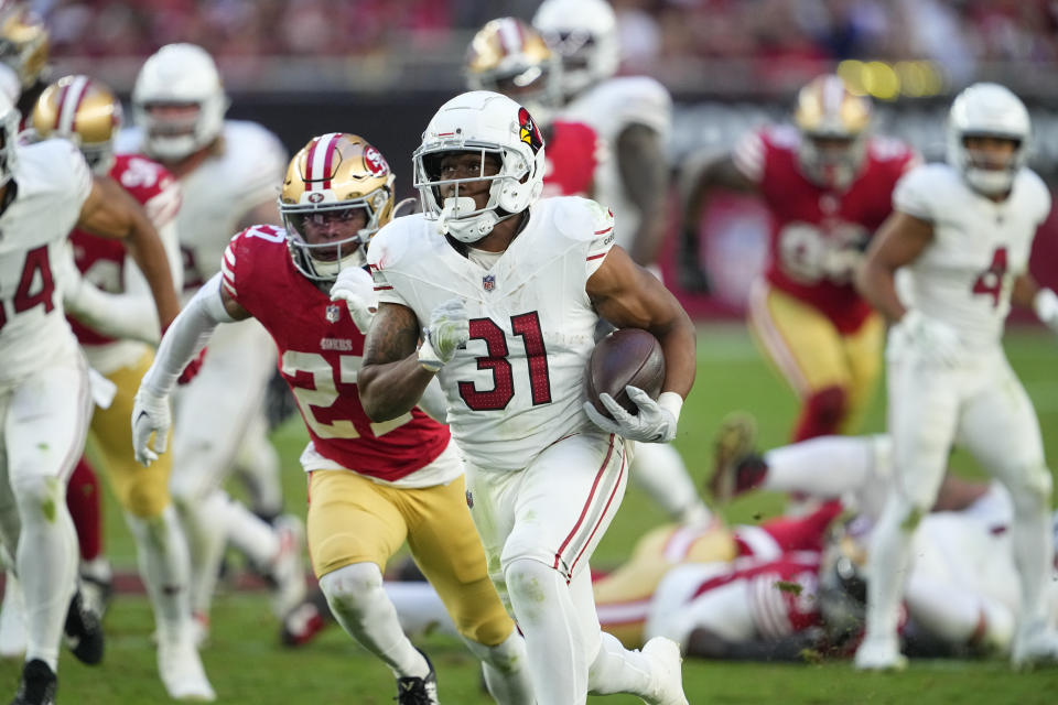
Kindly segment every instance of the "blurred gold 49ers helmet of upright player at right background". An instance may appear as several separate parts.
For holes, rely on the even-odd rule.
[[[801,132],[798,159],[805,176],[820,186],[848,187],[866,155],[871,100],[850,93],[840,76],[824,74],[798,93],[794,122]],[[848,145],[824,150],[817,140],[842,140]]]

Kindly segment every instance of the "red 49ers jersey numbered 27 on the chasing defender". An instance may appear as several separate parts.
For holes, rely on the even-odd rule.
[[[399,480],[449,445],[449,427],[419,409],[375,423],[364,413],[356,373],[361,334],[344,302],[332,302],[290,258],[287,234],[253,226],[231,238],[222,264],[225,291],[271,334],[316,452],[360,475]]]

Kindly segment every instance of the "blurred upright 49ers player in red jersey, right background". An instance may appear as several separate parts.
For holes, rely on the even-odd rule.
[[[882,369],[884,325],[852,285],[893,187],[918,163],[903,142],[870,134],[871,104],[835,75],[801,89],[792,126],[742,138],[704,165],[684,206],[685,257],[717,187],[755,191],[771,212],[771,251],[749,300],[749,326],[801,399],[794,441],[850,431]]]

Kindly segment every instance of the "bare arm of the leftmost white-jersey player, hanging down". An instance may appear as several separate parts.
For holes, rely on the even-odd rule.
[[[128,250],[151,285],[162,328],[180,313],[165,246],[143,207],[109,176],[93,178],[77,227],[106,238],[126,238]]]

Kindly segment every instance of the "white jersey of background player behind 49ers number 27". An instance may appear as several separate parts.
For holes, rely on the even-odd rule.
[[[119,153],[141,152],[142,130],[118,137]],[[220,271],[228,241],[251,208],[277,198],[287,173],[287,151],[272,132],[256,122],[225,120],[223,147],[181,177],[183,204],[176,220],[184,258],[184,292],[190,299]]]

